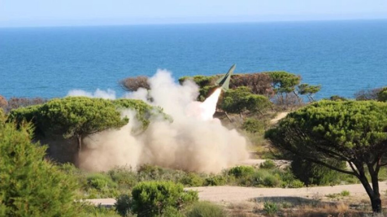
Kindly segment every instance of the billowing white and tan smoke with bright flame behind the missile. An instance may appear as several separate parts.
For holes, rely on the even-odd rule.
[[[217,88],[204,102],[196,101],[198,87],[192,81],[176,84],[165,70],[149,78],[151,90],[139,89],[125,98],[142,99],[161,106],[173,122],[152,117],[149,127],[139,135],[132,129],[139,123],[135,111],[122,111],[130,121],[119,130],[110,129],[84,139],[78,166],[91,171],[105,171],[115,166],[136,168],[153,164],[186,171],[217,173],[248,158],[246,139],[235,129],[223,127],[212,116],[221,93]],[[70,93],[70,92],[69,92]],[[109,96],[72,91],[69,95]],[[76,93],[76,94],[74,94]],[[152,102],[147,99],[152,98]]]

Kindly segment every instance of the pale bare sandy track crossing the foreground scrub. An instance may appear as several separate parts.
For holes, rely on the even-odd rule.
[[[387,190],[387,183],[379,182],[380,192]],[[324,197],[328,194],[340,193],[347,190],[351,197],[364,197],[366,192],[362,185],[336,185],[311,188],[250,188],[238,186],[209,186],[185,188],[185,190],[195,190],[199,193],[200,200],[211,202],[229,202],[238,203],[251,199],[265,198],[315,198]],[[113,198],[89,199],[85,200],[95,205],[112,206],[116,202]]]

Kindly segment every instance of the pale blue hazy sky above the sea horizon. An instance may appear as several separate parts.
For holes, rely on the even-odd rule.
[[[387,19],[387,0],[0,0],[0,27]]]

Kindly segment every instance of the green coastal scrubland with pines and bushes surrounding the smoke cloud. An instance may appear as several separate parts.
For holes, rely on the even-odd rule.
[[[193,81],[198,86],[197,100],[204,101],[216,88],[218,77],[183,77],[179,82]],[[148,79],[126,78],[119,83],[130,92],[149,92]],[[94,134],[135,122],[128,133],[141,135],[155,120],[174,121],[163,108],[142,100],[0,97],[0,215],[242,217],[382,212],[386,195],[379,191],[378,182],[387,180],[386,88],[361,90],[355,99],[316,100],[321,86],[301,81],[300,76],[284,71],[232,76],[231,90],[219,97],[214,117],[247,138],[251,158],[266,161],[216,172],[198,171],[191,164],[158,165],[158,161],[136,167],[82,168],[84,143],[98,138]],[[134,113],[123,116],[122,109]],[[288,115],[272,121],[279,114]],[[285,163],[278,164],[277,159]],[[245,203],[211,203],[199,202],[197,192],[184,190],[355,183],[364,186],[368,198],[352,198],[348,189],[311,198],[259,200],[257,195]],[[91,198],[116,198],[117,202],[114,207],[80,202]]]

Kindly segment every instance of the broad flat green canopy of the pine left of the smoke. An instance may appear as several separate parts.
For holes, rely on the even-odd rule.
[[[10,112],[10,119],[18,123],[32,121],[40,133],[63,133],[64,138],[83,137],[109,128],[122,127],[128,119],[121,119],[116,105],[110,100],[87,97],[53,99],[42,105],[19,108]]]

